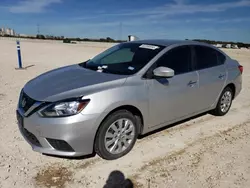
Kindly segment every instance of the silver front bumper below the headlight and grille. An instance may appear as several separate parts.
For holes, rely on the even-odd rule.
[[[100,114],[81,113],[63,118],[42,118],[37,113],[25,117],[21,109],[17,111],[23,118],[23,125],[19,124],[19,130],[34,151],[68,157],[93,153],[95,134],[104,117]],[[71,149],[60,150],[51,140],[67,143]]]

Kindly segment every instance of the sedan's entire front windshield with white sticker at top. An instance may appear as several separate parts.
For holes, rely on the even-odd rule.
[[[111,74],[132,75],[141,70],[164,47],[141,43],[113,46],[80,66]]]

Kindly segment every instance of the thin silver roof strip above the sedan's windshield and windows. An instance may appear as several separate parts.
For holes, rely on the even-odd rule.
[[[191,40],[168,40],[168,39],[148,39],[148,40],[136,40],[132,43],[145,43],[160,46],[170,46],[174,44],[196,44],[196,45],[207,45],[206,43],[191,41]]]

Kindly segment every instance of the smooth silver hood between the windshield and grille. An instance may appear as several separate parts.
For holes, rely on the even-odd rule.
[[[30,80],[23,91],[37,101],[54,102],[121,86],[126,75],[115,75],[71,65]]]

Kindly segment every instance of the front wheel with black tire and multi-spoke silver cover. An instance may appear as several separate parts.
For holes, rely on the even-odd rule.
[[[136,142],[139,130],[137,122],[136,117],[127,110],[119,110],[109,115],[97,132],[95,152],[106,160],[126,155]]]

